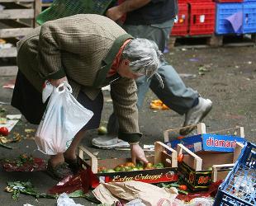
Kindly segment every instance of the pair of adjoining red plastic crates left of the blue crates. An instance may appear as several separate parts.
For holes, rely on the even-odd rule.
[[[211,0],[179,0],[178,19],[171,35],[212,35],[215,30],[216,5]]]

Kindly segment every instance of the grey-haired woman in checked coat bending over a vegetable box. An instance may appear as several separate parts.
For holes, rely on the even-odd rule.
[[[88,129],[101,119],[101,88],[111,85],[111,98],[119,120],[118,138],[130,143],[132,161],[147,163],[139,145],[141,133],[136,107],[135,79],[158,76],[163,54],[154,42],[133,39],[105,16],[79,14],[48,21],[17,44],[16,87],[12,105],[32,124],[39,124],[45,105],[41,91],[45,80],[58,87],[67,80],[73,95],[94,115],[73,138],[64,153],[50,156],[48,171],[57,179],[78,171],[76,149]],[[159,77],[161,82],[161,78]]]

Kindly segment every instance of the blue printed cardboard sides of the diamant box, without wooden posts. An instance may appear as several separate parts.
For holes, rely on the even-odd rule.
[[[176,139],[166,144],[176,149],[178,143],[182,143],[192,152],[234,152],[235,143],[245,144],[246,140],[245,138],[232,135],[202,133],[187,138]]]

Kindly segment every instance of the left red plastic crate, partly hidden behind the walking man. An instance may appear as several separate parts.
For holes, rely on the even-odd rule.
[[[174,21],[171,35],[188,35],[188,4],[178,4],[178,19]]]

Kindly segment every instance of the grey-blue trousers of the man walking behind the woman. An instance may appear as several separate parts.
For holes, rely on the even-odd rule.
[[[154,40],[159,45],[159,49],[163,52],[164,47],[168,43],[173,21],[174,20],[170,20],[162,24],[154,25],[123,25],[122,27],[135,38]],[[163,78],[164,88],[159,87],[159,80],[155,76],[148,81],[145,80],[145,77],[140,77],[136,80],[138,87],[138,107],[140,108],[141,105],[143,105],[145,94],[150,88],[169,108],[180,115],[187,113],[187,110],[192,108],[194,101],[198,97],[197,91],[186,87],[176,70],[167,62],[161,65],[159,74]]]

